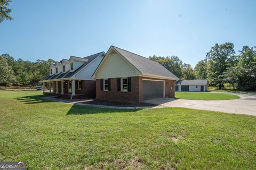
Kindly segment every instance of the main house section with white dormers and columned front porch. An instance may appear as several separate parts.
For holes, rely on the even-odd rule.
[[[105,56],[100,52],[87,57],[70,56],[69,60],[50,65],[50,74],[43,78],[43,92],[47,96],[63,98],[95,97],[95,80],[92,74]],[[45,92],[45,83],[49,83],[50,92]]]

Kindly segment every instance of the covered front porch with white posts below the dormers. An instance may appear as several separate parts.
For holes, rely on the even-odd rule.
[[[48,83],[50,92],[45,92],[45,83]],[[93,98],[95,97],[95,81],[72,79],[43,82],[43,94],[67,99]]]

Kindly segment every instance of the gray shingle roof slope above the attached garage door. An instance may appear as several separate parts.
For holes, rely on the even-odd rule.
[[[150,60],[149,58],[142,57],[138,54],[128,52],[127,50],[112,46],[119,54],[121,54],[127,61],[129,61],[135,68],[137,68],[142,74],[154,74],[163,77],[170,77],[179,79],[164,66]]]

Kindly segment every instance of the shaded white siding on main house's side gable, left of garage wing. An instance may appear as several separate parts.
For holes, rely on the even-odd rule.
[[[91,63],[89,63],[88,65],[86,65],[84,67],[83,70],[81,70],[81,72],[77,73],[75,75],[75,79],[77,80],[94,80],[92,78],[92,74],[94,73],[94,71],[97,69],[98,65],[100,64],[101,60],[102,60],[103,56],[99,56],[97,58],[95,58],[95,60],[93,60]]]

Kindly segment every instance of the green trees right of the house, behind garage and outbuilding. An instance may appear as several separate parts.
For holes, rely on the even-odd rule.
[[[228,83],[234,89],[256,90],[256,47],[243,46],[235,55],[234,44],[215,44],[194,69],[179,57],[149,56],[181,80],[207,79],[219,89]]]

